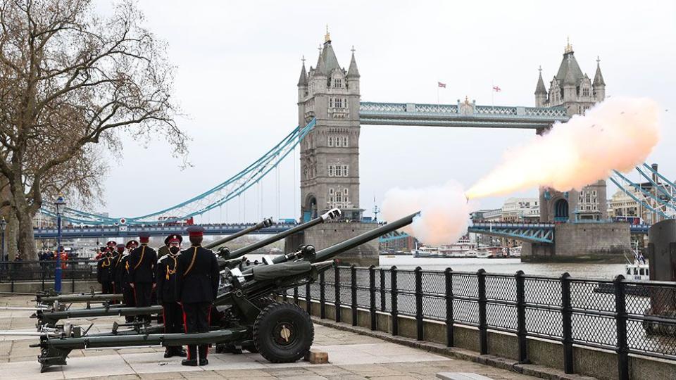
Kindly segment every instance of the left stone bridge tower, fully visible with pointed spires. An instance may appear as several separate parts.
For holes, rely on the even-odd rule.
[[[349,69],[341,68],[327,30],[317,65],[298,81],[299,125],[316,125],[301,143],[301,217],[330,208],[361,220],[359,208],[359,70],[352,49]]]

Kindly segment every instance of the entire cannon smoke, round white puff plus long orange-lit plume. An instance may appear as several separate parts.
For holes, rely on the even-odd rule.
[[[658,142],[659,129],[654,101],[608,99],[509,151],[501,165],[467,192],[453,182],[387,191],[383,216],[391,222],[420,210],[405,232],[430,245],[454,243],[467,232],[472,210],[468,199],[536,186],[581,189],[608,178],[612,170],[627,172],[643,163]]]

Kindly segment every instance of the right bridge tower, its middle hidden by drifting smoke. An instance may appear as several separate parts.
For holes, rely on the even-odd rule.
[[[549,82],[547,91],[542,80],[542,68],[539,69],[535,88],[535,106],[563,106],[568,115],[582,115],[595,103],[606,98],[606,82],[601,75],[600,60],[596,59],[594,81],[580,69],[570,42],[563,51],[563,60],[558,72]],[[546,133],[539,129],[537,134]],[[572,190],[562,193],[549,188],[540,188],[540,220],[542,222],[601,220],[608,217],[606,205],[606,181],[584,187],[581,191]]]

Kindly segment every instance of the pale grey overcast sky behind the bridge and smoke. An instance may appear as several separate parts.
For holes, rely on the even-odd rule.
[[[101,0],[105,12],[109,2]],[[137,216],[184,201],[256,160],[297,123],[301,57],[317,61],[329,25],[339,63],[356,49],[362,101],[441,103],[468,96],[496,105],[534,106],[537,68],[546,83],[558,70],[566,37],[583,72],[596,56],[606,96],[647,96],[664,110],[661,144],[649,161],[676,178],[676,6],[674,1],[168,1],[142,0],[146,25],[168,43],[175,99],[191,137],[180,169],[163,141],[127,143],[105,179],[111,216]],[[549,87],[549,84],[547,84]],[[361,128],[361,207],[370,215],[393,186],[430,186],[453,179],[470,186],[507,148],[534,132],[435,127]],[[296,160],[297,160],[296,151]],[[273,176],[246,203],[202,221],[299,216],[296,160],[280,168],[280,205]],[[295,165],[294,165],[295,164]],[[294,176],[295,170],[295,176]],[[632,175],[637,179],[637,175]],[[151,182],[150,186],[139,182]],[[142,189],[137,191],[136,189]],[[149,191],[154,189],[154,191]],[[608,191],[611,196],[614,189]],[[536,196],[537,189],[517,196]],[[504,198],[482,201],[499,207]],[[246,210],[244,207],[246,204]]]

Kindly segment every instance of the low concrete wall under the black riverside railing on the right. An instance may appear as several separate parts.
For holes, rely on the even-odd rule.
[[[293,298],[289,299],[290,302]],[[306,309],[304,300],[299,300],[299,305]],[[311,305],[312,315],[320,315],[320,304],[313,300]],[[325,305],[327,319],[334,320],[335,308],[332,304]],[[352,322],[352,312],[348,307],[341,308],[342,322]],[[392,334],[392,315],[377,312],[377,331]],[[399,323],[399,336],[417,338],[416,321],[412,317],[397,317]],[[358,309],[358,327],[370,329],[369,310]],[[446,344],[446,324],[438,321],[424,320],[423,336],[425,341]],[[454,347],[466,350],[479,351],[479,330],[476,327],[456,324],[453,326]],[[505,357],[509,360],[518,360],[518,337],[515,334],[507,334],[499,331],[488,331],[488,353]],[[563,370],[563,345],[557,341],[549,341],[540,338],[527,338],[527,357],[535,365]],[[630,355],[630,379],[676,379],[676,362],[658,360],[650,357]],[[576,374],[594,376],[597,379],[618,379],[617,355],[612,351],[598,350],[582,346],[573,347],[573,368]]]

